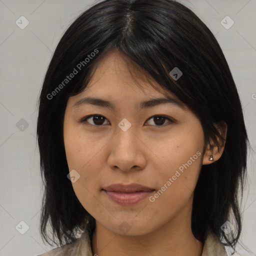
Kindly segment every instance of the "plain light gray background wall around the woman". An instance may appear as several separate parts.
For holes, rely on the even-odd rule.
[[[35,138],[36,102],[58,40],[75,17],[94,2],[0,0],[0,256],[37,255],[51,249],[43,243],[38,228],[42,188]],[[182,3],[206,23],[224,52],[255,150],[256,0],[183,0]],[[20,21],[22,15],[29,21],[24,29],[15,23],[17,20],[25,24],[24,19]],[[234,21],[229,29],[221,24],[226,15]],[[222,22],[231,24],[229,19]],[[242,201],[240,239],[252,252],[237,246],[236,255],[256,255],[254,156],[253,152],[248,154],[249,178]],[[21,234],[26,225],[28,230]]]

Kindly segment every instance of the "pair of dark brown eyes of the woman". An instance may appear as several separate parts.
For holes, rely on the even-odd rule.
[[[88,122],[89,119],[91,119],[92,123]],[[147,120],[151,120],[151,119],[153,120],[154,123],[156,123],[156,125],[153,125],[153,126],[163,126],[162,124],[165,123],[164,120],[168,120],[169,122],[174,122],[170,117],[168,117],[166,115],[153,115],[150,118],[148,118]],[[88,122],[92,126],[102,126],[102,124],[104,123],[104,120],[107,120],[107,119],[103,115],[92,114],[92,115],[83,117],[80,120],[80,122]],[[146,124],[146,125],[148,125],[148,124]],[[151,125],[151,124],[149,124],[149,125]]]

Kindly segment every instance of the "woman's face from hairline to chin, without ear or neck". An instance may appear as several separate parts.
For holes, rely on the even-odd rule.
[[[69,97],[63,136],[72,186],[83,207],[112,232],[123,234],[127,227],[129,235],[140,235],[191,210],[204,136],[187,108],[173,102],[140,108],[142,101],[174,96],[145,79],[139,87],[129,70],[122,55],[109,52],[85,90]],[[85,97],[110,101],[113,108],[82,102]],[[111,197],[102,189],[114,183],[153,191]]]

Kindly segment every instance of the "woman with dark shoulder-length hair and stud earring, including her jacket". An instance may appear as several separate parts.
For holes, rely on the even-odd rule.
[[[84,11],[50,61],[37,136],[40,232],[61,245],[51,255],[235,248],[242,108],[215,37],[181,3],[104,0]]]

